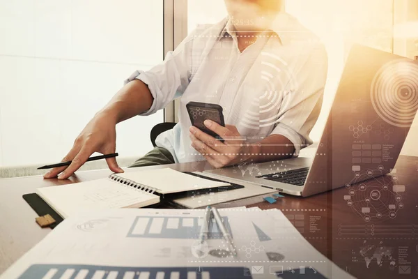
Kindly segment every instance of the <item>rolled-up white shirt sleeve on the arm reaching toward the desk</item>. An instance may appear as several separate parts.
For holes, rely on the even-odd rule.
[[[194,33],[187,36],[176,47],[176,50],[168,52],[160,65],[147,71],[136,70],[125,80],[125,84],[132,82],[132,80],[141,80],[148,85],[148,89],[153,95],[154,100],[150,109],[140,115],[154,114],[185,91],[189,84]]]

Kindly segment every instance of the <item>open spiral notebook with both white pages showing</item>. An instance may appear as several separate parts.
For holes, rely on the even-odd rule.
[[[170,168],[111,174],[105,179],[38,188],[38,195],[63,218],[80,211],[139,208],[160,202],[160,195],[229,186]]]

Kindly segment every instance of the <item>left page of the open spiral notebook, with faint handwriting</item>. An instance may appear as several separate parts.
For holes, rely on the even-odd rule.
[[[63,186],[38,188],[38,195],[63,218],[79,211],[142,207],[160,202],[160,197],[111,179],[98,179]]]

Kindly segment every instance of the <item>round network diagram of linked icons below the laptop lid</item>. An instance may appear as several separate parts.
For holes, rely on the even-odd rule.
[[[365,222],[394,219],[405,207],[405,185],[399,184],[396,174],[384,174],[387,171],[379,165],[378,169],[368,169],[365,174],[355,172],[355,177],[346,183],[348,195],[343,199]]]

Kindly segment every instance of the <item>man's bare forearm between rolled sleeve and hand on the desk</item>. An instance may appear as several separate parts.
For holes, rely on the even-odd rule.
[[[119,123],[149,110],[153,100],[148,86],[141,80],[133,80],[125,84],[98,114],[106,114]]]

